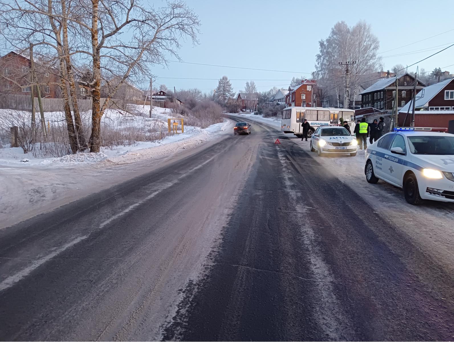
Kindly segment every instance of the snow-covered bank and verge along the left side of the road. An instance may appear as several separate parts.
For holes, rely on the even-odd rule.
[[[147,112],[147,106],[144,111]],[[118,113],[118,111],[116,111]],[[167,131],[172,114],[157,108],[152,121]],[[150,118],[123,117],[108,113],[104,119],[111,126],[131,127],[147,124]],[[205,129],[185,126],[183,134],[168,135],[162,140],[136,141],[131,145],[103,148],[100,153],[79,153],[59,158],[24,154],[21,148],[0,149],[0,228],[52,210],[60,205],[100,191],[147,172],[168,159],[179,158],[197,145],[230,132],[233,122],[224,119]],[[28,160],[22,162],[21,160]],[[153,160],[150,163],[150,160]],[[121,166],[121,167],[118,167]]]

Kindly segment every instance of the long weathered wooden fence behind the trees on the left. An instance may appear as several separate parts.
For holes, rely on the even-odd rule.
[[[101,106],[104,104],[106,99],[101,98]],[[110,99],[108,108],[120,109],[116,104],[119,102],[118,99]],[[42,99],[44,112],[62,112],[63,111],[63,99]],[[79,110],[86,112],[91,110],[92,100],[91,99],[79,99]],[[2,94],[0,95],[0,109],[14,109],[14,110],[25,110],[31,112],[31,99],[27,95],[14,95],[14,94]],[[72,108],[71,108],[72,109]],[[35,110],[39,112],[38,99],[35,98]]]

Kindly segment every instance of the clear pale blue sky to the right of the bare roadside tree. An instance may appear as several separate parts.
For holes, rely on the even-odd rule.
[[[159,6],[160,1],[154,5]],[[314,70],[318,41],[325,39],[331,27],[340,20],[355,25],[365,20],[380,40],[383,57],[405,54],[415,50],[434,50],[386,57],[384,69],[395,64],[410,65],[454,43],[454,0],[350,0],[350,1],[202,1],[187,0],[202,23],[200,45],[187,43],[179,51],[186,62],[230,65],[257,69],[296,71],[295,73],[230,69],[213,66],[170,63],[168,68],[156,66],[158,84],[177,89],[197,87],[209,92],[217,80],[165,79],[164,77],[255,80],[258,90],[273,85],[286,88],[293,76]],[[442,35],[395,49],[439,33]],[[289,36],[298,36],[290,41]],[[441,45],[441,46],[439,46]],[[454,64],[454,46],[421,63],[419,68],[431,70]],[[416,69],[416,65],[409,71]],[[454,65],[446,68],[454,72]],[[271,80],[259,80],[271,79]],[[283,81],[278,79],[284,79]],[[235,91],[244,88],[246,81],[232,80]]]

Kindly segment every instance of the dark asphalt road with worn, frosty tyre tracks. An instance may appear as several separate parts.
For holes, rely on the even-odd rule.
[[[453,340],[453,274],[296,142],[252,122],[0,230],[0,339]]]

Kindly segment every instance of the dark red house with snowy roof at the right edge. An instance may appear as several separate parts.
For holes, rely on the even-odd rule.
[[[413,101],[399,110],[399,126],[411,125]],[[415,127],[448,128],[454,120],[454,78],[424,87],[416,94]]]

